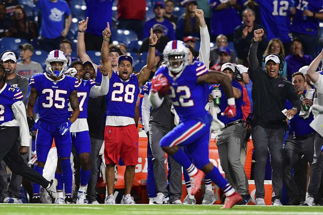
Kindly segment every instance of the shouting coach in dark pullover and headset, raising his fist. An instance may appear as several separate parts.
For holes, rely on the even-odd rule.
[[[264,57],[265,71],[257,60],[257,48],[263,29],[254,31],[249,50],[248,74],[253,82],[252,140],[255,153],[256,205],[265,205],[264,178],[268,149],[272,166],[273,205],[282,205],[280,196],[283,184],[283,139],[286,117],[293,117],[301,109],[301,103],[292,83],[283,79],[278,71],[283,69],[284,58],[277,54]],[[292,103],[292,109],[284,111],[285,102]]]

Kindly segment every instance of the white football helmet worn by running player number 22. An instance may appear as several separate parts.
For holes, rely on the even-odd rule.
[[[180,40],[169,41],[163,51],[164,61],[168,69],[173,73],[180,73],[188,65],[187,46]],[[175,55],[174,57],[171,56]]]

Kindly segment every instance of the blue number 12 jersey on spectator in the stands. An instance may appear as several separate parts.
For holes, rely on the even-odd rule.
[[[283,43],[290,42],[290,0],[255,0],[259,5],[261,24],[267,29],[268,41],[279,38]]]

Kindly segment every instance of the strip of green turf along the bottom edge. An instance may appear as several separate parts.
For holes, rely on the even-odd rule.
[[[157,214],[157,215],[323,215],[323,206],[234,206],[221,210],[220,205],[50,205],[0,204],[0,214]]]

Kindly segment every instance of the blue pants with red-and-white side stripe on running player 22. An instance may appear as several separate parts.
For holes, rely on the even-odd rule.
[[[160,146],[184,146],[184,151],[192,159],[194,165],[201,169],[210,162],[210,126],[211,124],[199,120],[186,120],[161,138]]]

